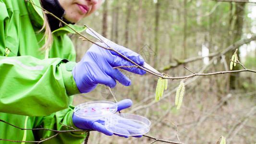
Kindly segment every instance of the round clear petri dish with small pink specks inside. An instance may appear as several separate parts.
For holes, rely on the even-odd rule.
[[[117,111],[117,105],[111,101],[91,101],[74,108],[74,114],[84,119],[99,119],[112,115]]]

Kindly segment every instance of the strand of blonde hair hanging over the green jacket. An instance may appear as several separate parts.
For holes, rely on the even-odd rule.
[[[41,6],[42,6],[42,0],[39,0],[39,1],[41,3]],[[48,48],[49,49],[51,48],[51,44],[53,42],[53,36],[52,36],[52,33],[51,33],[51,29],[50,29],[50,25],[49,25],[46,13],[44,11],[43,11],[43,15],[44,15],[44,24],[43,24],[42,28],[38,31],[38,33],[44,31],[44,36],[42,37],[41,40],[43,40],[45,38],[45,44],[39,50],[42,51],[42,52],[45,52]]]

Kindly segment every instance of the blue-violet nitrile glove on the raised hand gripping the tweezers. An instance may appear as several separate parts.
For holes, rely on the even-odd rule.
[[[109,48],[104,43],[97,43],[100,46]],[[133,60],[138,65],[144,64],[144,59],[134,51],[122,46],[108,44],[113,48]],[[123,59],[116,52],[101,48],[95,44],[85,53],[83,59],[73,68],[72,74],[76,86],[81,93],[92,91],[97,84],[105,84],[109,87],[115,87],[116,81],[125,86],[131,85],[131,80],[118,69],[117,66],[134,66],[130,61]],[[122,69],[136,74],[145,74],[146,71],[138,68],[122,67]]]

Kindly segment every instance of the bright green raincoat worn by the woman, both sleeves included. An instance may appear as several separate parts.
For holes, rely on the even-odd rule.
[[[39,0],[30,1],[40,5]],[[69,130],[60,122],[76,128],[71,104],[72,96],[80,92],[69,66],[72,62],[63,60],[75,61],[73,43],[66,35],[73,31],[66,26],[53,31],[52,47],[42,53],[44,33],[38,33],[44,21],[42,10],[24,0],[0,0],[0,11],[0,120],[25,129]],[[86,136],[81,133],[60,133],[43,144],[81,144]],[[0,122],[0,139],[38,141],[54,134]]]

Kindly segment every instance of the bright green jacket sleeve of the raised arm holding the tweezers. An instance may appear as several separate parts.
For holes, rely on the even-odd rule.
[[[9,15],[0,0],[0,112],[47,116],[72,103],[79,90],[68,63],[53,58],[4,57]]]

